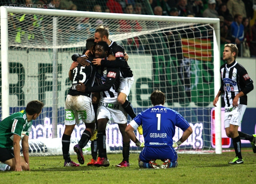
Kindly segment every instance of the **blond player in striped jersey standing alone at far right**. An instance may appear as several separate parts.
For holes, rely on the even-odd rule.
[[[253,81],[246,69],[236,61],[238,48],[235,44],[226,44],[223,51],[223,59],[227,62],[220,67],[221,87],[214,98],[213,105],[216,107],[218,98],[224,93],[225,119],[224,126],[226,135],[232,138],[236,158],[229,164],[243,164],[241,154],[241,139],[249,140],[253,152],[256,153],[255,137],[238,131],[241,126],[242,117],[247,106],[247,96],[253,90]]]

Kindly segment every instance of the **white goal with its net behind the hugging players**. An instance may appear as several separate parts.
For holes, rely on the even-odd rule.
[[[216,112],[215,119],[211,118],[214,67],[220,58],[216,53],[218,19],[1,7],[0,116],[24,109],[31,100],[44,102],[29,136],[32,153],[62,153],[71,56],[82,53],[86,39],[93,37],[101,24],[108,27],[110,39],[121,43],[129,55],[135,80],[128,99],[136,114],[152,106],[150,94],[159,89],[166,94],[165,106],[179,112],[193,129],[177,150],[214,150],[215,140],[219,140],[214,131],[218,129],[214,124]],[[76,125],[73,144],[84,128],[84,124]],[[122,150],[118,125],[108,125],[106,133],[108,151]],[[182,130],[176,127],[174,141],[181,135]],[[90,150],[89,145],[85,149]],[[140,148],[131,142],[131,150]]]

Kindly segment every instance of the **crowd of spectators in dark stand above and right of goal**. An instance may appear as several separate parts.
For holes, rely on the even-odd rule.
[[[240,57],[256,57],[256,22],[250,25],[250,20],[255,19],[254,3],[254,0],[6,0],[1,1],[0,5],[20,7],[37,5],[38,8],[57,10],[219,18],[221,44],[236,44]],[[30,19],[33,21],[33,18]],[[98,20],[97,23],[103,22]],[[120,31],[142,30],[142,25],[138,22],[120,21],[119,24]],[[80,28],[79,25],[72,27],[72,29]],[[33,35],[30,37],[32,38]],[[16,42],[19,41],[16,37]],[[126,48],[128,51],[143,50],[138,37],[126,40],[124,45],[130,45]]]

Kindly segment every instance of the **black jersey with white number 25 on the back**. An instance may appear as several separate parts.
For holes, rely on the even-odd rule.
[[[97,71],[97,67],[92,63],[88,67],[83,67],[78,64],[78,66],[73,70],[72,76],[72,86],[69,88],[68,94],[75,95],[84,95],[91,96],[90,92],[80,92],[76,90],[76,86],[79,82],[84,83],[85,87],[92,86],[94,84],[95,74]]]

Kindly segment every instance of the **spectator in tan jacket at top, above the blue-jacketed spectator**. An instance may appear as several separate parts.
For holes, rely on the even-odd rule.
[[[242,17],[246,17],[245,5],[242,0],[228,0],[227,8],[233,17],[235,17],[236,14],[241,14]],[[238,54],[239,54],[239,48],[238,48]]]

